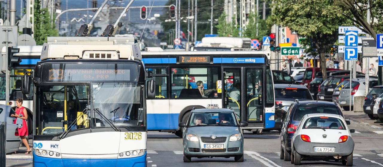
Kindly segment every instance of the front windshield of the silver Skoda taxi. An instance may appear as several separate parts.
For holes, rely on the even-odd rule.
[[[237,119],[233,112],[193,112],[190,126],[237,126]]]

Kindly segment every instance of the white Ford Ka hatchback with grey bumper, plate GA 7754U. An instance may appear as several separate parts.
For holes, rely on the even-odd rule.
[[[298,125],[291,140],[291,163],[300,165],[305,161],[342,161],[343,165],[352,166],[354,140],[351,133],[355,130],[347,127],[340,115],[308,114]]]

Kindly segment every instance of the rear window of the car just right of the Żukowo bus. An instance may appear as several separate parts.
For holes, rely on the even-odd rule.
[[[283,88],[274,91],[276,99],[311,99],[307,89]]]

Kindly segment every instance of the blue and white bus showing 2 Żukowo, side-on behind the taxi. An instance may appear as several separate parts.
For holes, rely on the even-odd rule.
[[[242,129],[255,134],[278,129],[269,51],[146,50],[142,61],[157,84],[155,99],[147,100],[148,130],[182,136],[178,123],[208,104],[234,110],[249,123]]]

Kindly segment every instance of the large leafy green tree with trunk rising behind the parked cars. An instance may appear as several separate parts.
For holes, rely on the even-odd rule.
[[[337,41],[338,26],[350,24],[336,0],[272,0],[273,12],[269,24],[286,26],[306,37],[306,53],[319,55],[322,76],[327,79],[326,53]]]

